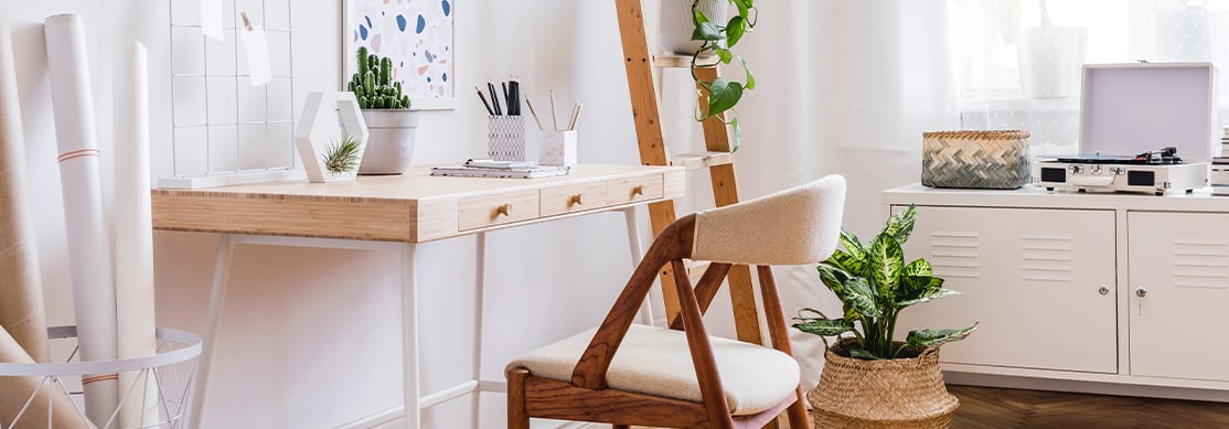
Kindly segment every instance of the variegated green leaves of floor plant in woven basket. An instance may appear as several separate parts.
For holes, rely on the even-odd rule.
[[[934,277],[925,259],[905,263],[901,245],[909,238],[916,220],[917,208],[909,207],[892,215],[868,243],[842,229],[844,250],[837,250],[817,268],[820,280],[843,304],[843,317],[830,318],[819,310],[803,309],[817,317],[795,317],[800,323],[794,327],[820,337],[853,333],[855,342],[848,353],[857,359],[908,358],[906,352],[936,348],[972,333],[976,323],[964,329],[913,329],[903,342],[892,339],[901,311],[960,294],[943,288],[944,280]]]

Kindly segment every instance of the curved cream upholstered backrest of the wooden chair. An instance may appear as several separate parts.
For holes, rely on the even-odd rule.
[[[836,251],[844,177],[832,175],[771,195],[696,214],[692,259],[796,266]]]

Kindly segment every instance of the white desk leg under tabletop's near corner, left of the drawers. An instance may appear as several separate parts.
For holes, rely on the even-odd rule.
[[[406,243],[401,254],[401,352],[404,380],[406,429],[419,429],[423,411],[418,407],[418,252]]]

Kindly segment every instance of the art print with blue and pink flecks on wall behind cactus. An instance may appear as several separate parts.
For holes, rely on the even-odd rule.
[[[358,69],[360,47],[392,59],[410,106],[456,107],[452,23],[456,0],[344,0],[342,87]]]

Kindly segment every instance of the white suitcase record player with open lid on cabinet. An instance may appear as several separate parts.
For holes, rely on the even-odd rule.
[[[1202,188],[1215,144],[1214,102],[1209,63],[1085,65],[1079,144],[1090,155],[1034,162],[1034,184],[1156,195]]]

